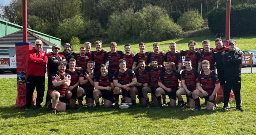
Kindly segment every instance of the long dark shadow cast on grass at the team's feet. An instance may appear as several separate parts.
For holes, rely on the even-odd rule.
[[[164,106],[162,109],[157,109],[156,106],[152,106],[152,108],[147,109],[137,104],[136,108],[117,109],[117,110],[114,110],[113,107],[105,108],[103,106],[100,106],[100,109],[98,110],[95,110],[94,108],[87,108],[87,107],[84,107],[82,110],[79,110],[79,111],[77,109],[67,109],[65,112],[58,113],[57,115],[58,116],[63,115],[65,118],[65,115],[69,115],[69,114],[79,115],[78,113],[90,113],[90,114],[99,113],[97,115],[90,115],[87,117],[101,117],[104,115],[118,115],[118,114],[124,113],[125,115],[130,115],[134,118],[140,118],[140,117],[148,117],[151,119],[178,118],[182,120],[189,117],[217,113],[220,111],[220,109],[221,108],[218,107],[218,108],[215,108],[214,111],[207,111],[205,110],[205,107],[202,106],[202,110],[198,112],[193,112],[192,109],[182,110],[180,107],[170,107],[170,106]],[[20,118],[20,117],[24,117],[24,118],[38,117],[38,116],[44,116],[51,113],[51,111],[47,111],[45,107],[42,107],[41,109],[37,109],[34,106],[28,111],[26,111],[25,108],[19,108],[15,106],[0,107],[0,112],[1,112],[0,117],[4,119]],[[103,112],[107,112],[107,113],[103,113]],[[66,116],[66,118],[68,117]],[[72,119],[73,118],[71,118],[70,120]],[[50,121],[47,120],[42,123],[50,123],[55,121],[56,120],[50,120]]]

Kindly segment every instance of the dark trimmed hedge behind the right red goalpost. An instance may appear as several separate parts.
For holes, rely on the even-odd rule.
[[[208,14],[212,32],[225,32],[225,8],[214,8]],[[239,4],[231,7],[231,36],[256,34],[256,4]]]

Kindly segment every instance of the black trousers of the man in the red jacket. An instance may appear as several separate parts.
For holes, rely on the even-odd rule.
[[[37,98],[36,98],[36,105],[41,107],[41,103],[43,102],[44,96],[44,76],[27,76],[26,82],[26,107],[31,106],[31,100],[33,96],[33,92],[36,88],[37,91]]]

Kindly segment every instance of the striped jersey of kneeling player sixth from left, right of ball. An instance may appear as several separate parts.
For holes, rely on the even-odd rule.
[[[134,71],[135,76],[137,78],[137,82],[138,83],[147,83],[149,84],[150,82],[150,74],[149,72],[145,69],[145,70],[135,70]]]

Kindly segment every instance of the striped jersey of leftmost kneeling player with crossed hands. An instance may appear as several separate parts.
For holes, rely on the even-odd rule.
[[[53,73],[52,76],[51,76],[52,82],[57,81],[57,79],[55,79],[55,77],[57,77],[56,75],[58,75],[61,80],[63,80],[64,77],[68,77],[68,80],[71,80],[71,76],[69,74],[67,74],[66,72],[62,76],[62,75],[59,74],[59,71],[57,71],[57,72]],[[65,96],[66,86],[61,84],[60,86],[55,87],[54,85],[52,85],[51,90],[57,90],[58,92],[60,92],[61,95]]]

